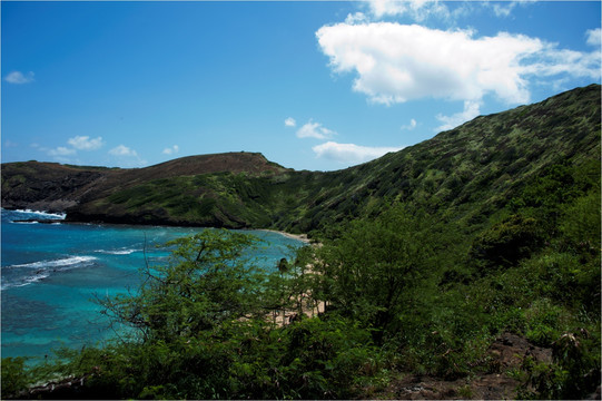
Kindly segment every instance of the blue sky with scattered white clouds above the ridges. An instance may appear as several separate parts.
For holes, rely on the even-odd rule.
[[[600,82],[600,21],[599,1],[2,1],[2,163],[341,169]]]

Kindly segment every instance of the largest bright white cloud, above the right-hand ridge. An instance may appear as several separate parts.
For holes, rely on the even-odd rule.
[[[353,89],[384,105],[420,98],[476,101],[486,94],[520,104],[530,99],[531,77],[600,75],[598,52],[559,50],[523,35],[475,38],[470,30],[373,22],[324,26],[316,37],[333,71],[356,74]]]

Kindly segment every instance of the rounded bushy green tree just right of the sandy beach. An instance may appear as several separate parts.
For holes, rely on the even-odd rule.
[[[404,307],[406,288],[428,270],[430,228],[427,216],[404,206],[374,221],[352,222],[341,238],[317,252],[322,296],[332,309],[377,332],[388,329]]]

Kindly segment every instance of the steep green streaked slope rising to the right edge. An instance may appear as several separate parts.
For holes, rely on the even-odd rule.
[[[546,166],[600,162],[600,100],[599,85],[578,88],[477,117],[433,139],[334,173],[346,182],[346,190],[329,190],[316,213],[336,209],[336,218],[341,212],[369,214],[389,199],[457,218],[487,215]]]

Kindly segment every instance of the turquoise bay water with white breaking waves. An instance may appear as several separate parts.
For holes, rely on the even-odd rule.
[[[156,245],[204,228],[140,227],[97,224],[16,223],[60,218],[36,212],[1,211],[2,215],[2,358],[42,360],[59,346],[81,348],[111,338],[95,294],[136,288],[139,268],[166,260]],[[260,263],[275,267],[302,242],[277,233],[249,231],[264,243]]]

